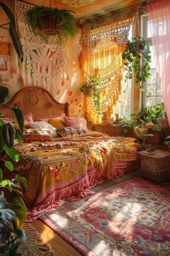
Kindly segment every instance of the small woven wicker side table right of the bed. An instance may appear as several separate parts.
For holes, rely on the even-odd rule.
[[[140,175],[156,182],[166,182],[170,179],[170,153],[156,150],[153,153],[138,152],[141,161]]]

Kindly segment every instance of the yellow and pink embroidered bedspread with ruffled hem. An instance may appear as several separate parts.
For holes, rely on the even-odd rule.
[[[91,186],[120,175],[116,163],[125,163],[124,167],[134,163],[137,148],[132,138],[99,132],[52,142],[23,142],[18,146],[21,158],[15,173],[27,177],[24,202],[30,208],[28,220],[60,206],[63,199],[89,195]]]

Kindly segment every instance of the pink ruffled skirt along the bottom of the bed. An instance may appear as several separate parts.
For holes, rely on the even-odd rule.
[[[128,174],[134,170],[135,162],[115,162],[114,169],[110,179]],[[53,192],[47,193],[45,198],[40,196],[37,198],[37,204],[34,208],[29,209],[27,213],[27,221],[35,221],[44,213],[48,213],[55,208],[59,208],[64,200],[77,200],[87,195],[92,195],[94,192],[90,190],[91,187],[104,182],[104,178],[99,175],[99,172],[93,166],[89,166],[86,174],[71,184],[63,184],[60,189],[55,188]],[[42,201],[41,201],[42,199]]]

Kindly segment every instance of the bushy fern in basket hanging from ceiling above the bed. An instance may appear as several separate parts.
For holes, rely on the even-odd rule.
[[[75,34],[75,19],[66,9],[35,6],[26,12],[26,20],[32,32],[44,40],[48,40],[47,35],[67,39]]]

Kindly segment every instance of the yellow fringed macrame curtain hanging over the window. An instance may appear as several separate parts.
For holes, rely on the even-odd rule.
[[[121,93],[122,52],[132,19],[107,24],[86,24],[81,30],[81,70],[84,80],[100,75],[100,108],[86,98],[86,117],[94,124],[108,123]]]

